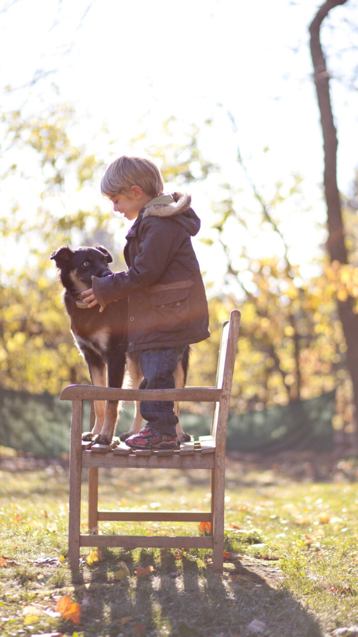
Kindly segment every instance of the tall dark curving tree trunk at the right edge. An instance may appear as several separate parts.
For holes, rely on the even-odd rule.
[[[329,73],[327,72],[326,59],[320,44],[320,27],[331,9],[346,2],[347,0],[326,0],[320,6],[310,25],[313,79],[317,92],[324,148],[324,194],[327,204],[328,227],[327,250],[331,261],[339,261],[340,263],[347,263],[348,255],[345,247],[345,231],[336,175],[338,140],[329,94]],[[358,315],[353,311],[354,300],[352,298],[348,297],[347,301],[337,300],[337,304],[347,343],[347,366],[352,378],[355,403],[355,446],[358,448]]]

